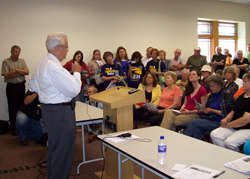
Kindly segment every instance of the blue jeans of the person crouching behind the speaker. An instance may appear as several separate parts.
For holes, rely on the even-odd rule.
[[[21,111],[18,111],[16,115],[16,129],[20,141],[24,140],[25,137],[39,140],[45,133],[41,119],[31,119]]]

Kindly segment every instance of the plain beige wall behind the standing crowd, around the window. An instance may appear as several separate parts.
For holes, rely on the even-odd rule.
[[[88,62],[94,49],[115,53],[120,45],[129,56],[136,50],[145,55],[145,49],[153,46],[166,50],[167,58],[181,48],[182,57],[187,59],[197,46],[198,18],[245,22],[247,33],[242,42],[250,42],[247,5],[207,0],[0,0],[0,4],[0,62],[9,57],[12,45],[20,45],[20,57],[31,74],[46,54],[46,36],[54,31],[69,37],[69,53],[63,64],[76,50],[83,51]],[[3,79],[0,101],[0,119],[7,120]]]

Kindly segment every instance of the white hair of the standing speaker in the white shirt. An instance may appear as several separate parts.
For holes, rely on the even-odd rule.
[[[68,37],[62,32],[54,32],[49,34],[46,40],[46,48],[48,52],[54,50],[54,48],[58,45],[64,45],[65,39],[68,40]]]

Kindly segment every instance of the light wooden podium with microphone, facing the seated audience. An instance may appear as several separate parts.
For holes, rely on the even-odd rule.
[[[133,88],[116,86],[90,97],[90,100],[103,104],[103,119],[110,116],[110,121],[116,124],[117,132],[133,129],[133,104],[145,101],[145,92],[139,90],[133,94],[128,91]],[[123,160],[123,158],[122,158]],[[118,178],[118,155],[115,151],[107,149],[105,152],[105,171],[103,178]],[[124,179],[134,178],[134,165],[131,161],[122,164],[121,176]],[[101,178],[102,171],[96,173]]]

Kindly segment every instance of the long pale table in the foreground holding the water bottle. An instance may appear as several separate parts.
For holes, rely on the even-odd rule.
[[[133,140],[122,143],[112,143],[107,139],[103,139],[107,135],[98,136],[103,142],[103,145],[118,153],[119,178],[122,172],[121,164],[128,159],[142,166],[142,178],[144,178],[144,168],[162,178],[172,178],[171,175],[176,173],[176,171],[172,171],[171,169],[176,163],[185,164],[186,167],[197,164],[219,171],[225,170],[226,172],[220,175],[218,177],[219,179],[249,178],[249,175],[242,174],[224,166],[227,162],[244,157],[244,154],[156,126],[130,130],[127,132],[141,139],[148,138],[151,142]],[[118,135],[120,133],[121,132],[112,133],[110,135]],[[167,163],[165,165],[157,163],[157,147],[161,135],[165,137],[167,143]],[[121,161],[121,155],[127,159]]]

